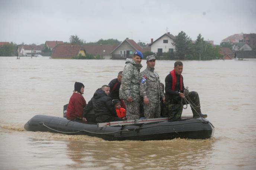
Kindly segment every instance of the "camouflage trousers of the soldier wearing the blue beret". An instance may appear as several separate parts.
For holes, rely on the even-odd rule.
[[[124,100],[126,106],[126,117],[127,120],[140,119],[140,102],[132,101],[128,102]]]

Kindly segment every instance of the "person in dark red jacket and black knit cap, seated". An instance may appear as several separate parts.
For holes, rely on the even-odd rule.
[[[74,84],[74,91],[67,107],[67,119],[82,119],[83,118],[83,108],[86,106],[86,101],[83,97],[84,85],[83,83],[76,82]]]

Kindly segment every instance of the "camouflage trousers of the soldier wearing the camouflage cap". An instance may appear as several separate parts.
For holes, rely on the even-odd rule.
[[[146,119],[159,118],[161,113],[160,103],[153,103],[149,101],[149,104],[143,104],[144,117]]]

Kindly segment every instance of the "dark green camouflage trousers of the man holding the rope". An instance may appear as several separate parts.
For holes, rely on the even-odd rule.
[[[200,108],[200,100],[199,100],[199,96],[198,93],[196,91],[191,91],[188,93],[188,96],[185,96],[187,100],[190,100],[193,104],[194,104],[194,108],[192,108],[191,106],[191,110],[193,113],[193,116],[197,116],[198,113],[201,113],[201,108]],[[170,98],[170,97],[166,97],[166,102],[163,104],[164,108],[164,113],[165,115],[168,115],[168,117],[170,119],[180,119],[182,111],[183,111],[183,104],[185,104],[184,99],[183,103],[181,102],[181,98],[180,97],[175,97],[175,98]],[[197,106],[197,107],[195,107]]]

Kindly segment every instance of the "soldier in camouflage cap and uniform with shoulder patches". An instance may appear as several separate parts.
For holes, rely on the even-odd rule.
[[[159,75],[154,71],[155,56],[147,56],[147,68],[140,73],[140,96],[143,97],[144,117],[146,119],[159,118],[160,97],[165,102]]]

